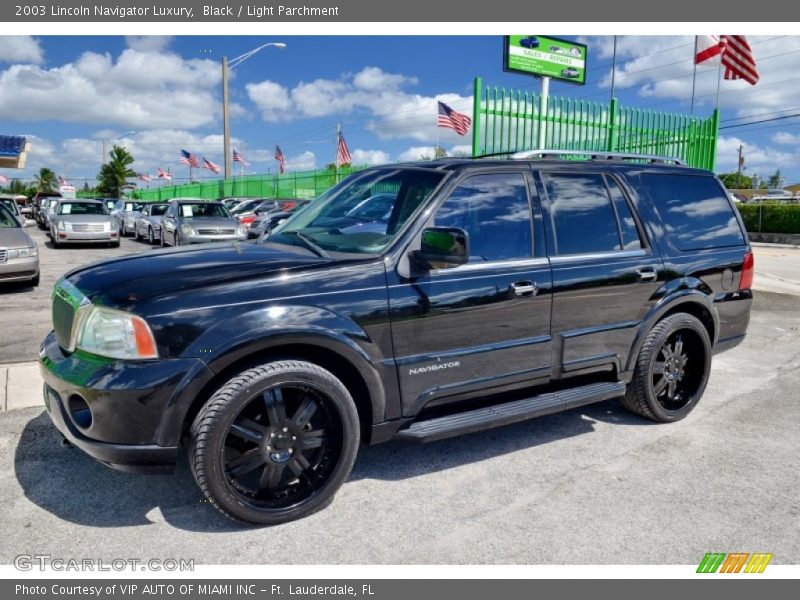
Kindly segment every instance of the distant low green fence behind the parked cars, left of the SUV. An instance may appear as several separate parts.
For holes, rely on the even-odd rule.
[[[299,171],[282,175],[246,175],[233,179],[213,179],[183,185],[165,185],[139,189],[142,200],[169,200],[170,198],[229,198],[251,196],[255,198],[316,198],[350,173],[366,166],[342,167],[333,171]]]

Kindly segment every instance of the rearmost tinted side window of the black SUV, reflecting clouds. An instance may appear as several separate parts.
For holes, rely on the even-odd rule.
[[[672,243],[680,250],[744,245],[725,192],[713,177],[642,175]]]

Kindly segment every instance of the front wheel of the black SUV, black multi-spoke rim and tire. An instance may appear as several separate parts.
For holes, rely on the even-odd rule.
[[[223,514],[275,525],[331,501],[353,468],[359,431],[353,399],[333,374],[303,361],[272,362],[237,375],[206,402],[191,427],[189,465]]]

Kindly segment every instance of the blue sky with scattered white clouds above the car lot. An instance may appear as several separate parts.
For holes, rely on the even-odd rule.
[[[580,40],[589,45],[587,85],[554,83],[551,93],[605,101],[612,37]],[[249,172],[274,171],[276,143],[290,170],[323,167],[335,157],[337,123],[354,162],[416,159],[435,143],[436,99],[470,112],[474,76],[492,85],[539,87],[532,78],[503,73],[499,36],[0,36],[0,133],[32,138],[22,176],[50,166],[79,184],[94,180],[104,140],[107,147],[126,146],[135,168],[150,174],[161,166],[185,176],[180,148],[221,164],[219,59],[269,41],[287,48],[264,49],[231,81],[232,135],[252,163]],[[721,131],[718,167],[734,168],[742,144],[747,173],[764,177],[779,167],[786,183],[795,183],[800,118],[739,125],[798,113],[800,37],[750,41],[761,81],[755,87],[722,82],[723,126],[736,127]],[[620,102],[688,112],[692,53],[690,36],[621,36]],[[716,73],[700,69],[699,115],[713,108]],[[438,133],[449,151],[470,143],[449,130]]]

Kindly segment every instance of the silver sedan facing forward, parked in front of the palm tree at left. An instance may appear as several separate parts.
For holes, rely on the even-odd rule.
[[[98,200],[61,200],[50,216],[53,246],[70,243],[106,243],[119,246],[116,219]]]

